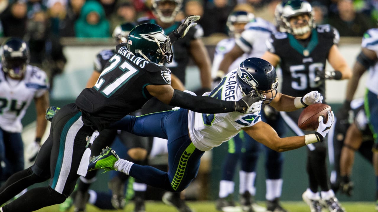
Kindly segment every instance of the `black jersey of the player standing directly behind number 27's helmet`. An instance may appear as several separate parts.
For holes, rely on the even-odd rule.
[[[154,19],[143,19],[140,18],[138,20],[138,25],[142,23],[154,23],[156,21]],[[165,28],[164,32],[166,35],[173,32],[178,26],[181,25],[181,22],[175,22],[169,28]],[[190,55],[190,42],[192,40],[198,39],[203,37],[203,29],[201,26],[196,25],[189,29],[185,37],[181,38],[180,40],[175,41],[172,45],[173,51],[173,60],[172,63],[164,63],[164,66],[167,66],[172,74],[176,75],[182,83],[185,84],[185,69],[189,63],[189,55]]]

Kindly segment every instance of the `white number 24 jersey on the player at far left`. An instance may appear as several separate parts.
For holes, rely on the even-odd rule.
[[[49,88],[46,73],[35,66],[27,65],[24,76],[23,80],[12,80],[0,71],[0,128],[4,131],[21,132],[21,119],[31,101]]]

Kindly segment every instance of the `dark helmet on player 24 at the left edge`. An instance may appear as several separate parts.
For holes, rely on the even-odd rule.
[[[14,78],[22,77],[30,58],[28,45],[19,38],[8,38],[1,46],[0,57],[4,72]]]

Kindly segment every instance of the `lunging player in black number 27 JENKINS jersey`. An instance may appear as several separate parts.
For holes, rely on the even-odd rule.
[[[187,17],[177,31],[183,37],[193,26]],[[195,20],[198,20],[195,19]],[[170,36],[170,35],[169,35]],[[13,174],[0,187],[0,205],[32,184],[51,179],[50,184],[28,190],[0,208],[2,212],[27,212],[59,204],[74,190],[79,175],[88,169],[90,146],[102,129],[140,109],[152,97],[172,106],[201,113],[254,112],[261,97],[246,95],[238,101],[192,96],[170,86],[170,70],[159,65],[172,61],[170,38],[155,24],[135,27],[127,43],[116,47],[99,80],[85,88],[75,103],[63,106],[54,116],[50,135],[41,146],[33,166]]]

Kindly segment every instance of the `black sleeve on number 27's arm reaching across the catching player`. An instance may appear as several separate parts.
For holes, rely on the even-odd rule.
[[[194,96],[176,89],[169,105],[203,114],[234,112],[236,107],[235,101],[218,100],[207,96]]]

